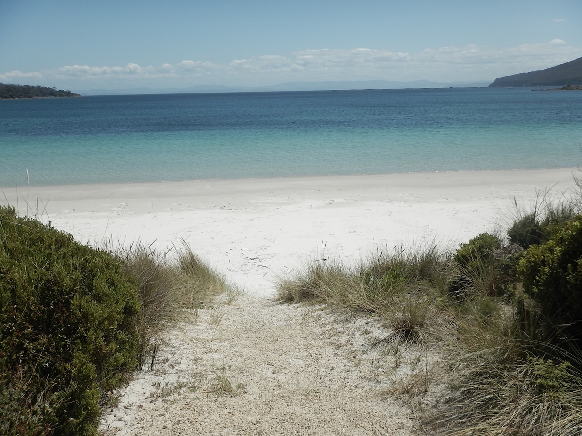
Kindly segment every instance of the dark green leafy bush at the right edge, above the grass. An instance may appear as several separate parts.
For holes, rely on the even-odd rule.
[[[540,328],[548,339],[580,345],[582,215],[563,226],[545,244],[530,246],[520,260],[518,273],[524,291],[537,303],[535,310],[543,320]]]

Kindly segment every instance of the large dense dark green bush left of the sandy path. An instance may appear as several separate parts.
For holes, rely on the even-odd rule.
[[[95,433],[136,366],[138,310],[109,253],[0,207],[0,433]]]

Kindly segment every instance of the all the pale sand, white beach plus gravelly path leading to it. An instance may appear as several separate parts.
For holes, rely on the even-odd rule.
[[[413,417],[386,392],[407,377],[402,368],[414,373],[414,356],[397,349],[391,360],[374,349],[377,320],[277,305],[269,300],[274,281],[323,256],[353,262],[400,243],[454,247],[507,224],[500,219],[514,202],[528,209],[547,189],[561,197],[573,174],[205,180],[3,194],[21,214],[40,215],[92,245],[113,238],[164,249],[184,240],[246,291],[176,326],[157,366],[136,376],[104,428],[123,435],[408,435]]]

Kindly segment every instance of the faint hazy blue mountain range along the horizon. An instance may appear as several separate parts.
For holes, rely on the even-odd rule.
[[[391,82],[386,80],[368,81],[327,81],[289,82],[263,87],[232,87],[201,85],[189,88],[126,88],[120,90],[81,90],[81,95],[130,95],[130,94],[195,94],[197,92],[264,92],[264,91],[327,91],[327,90],[383,90],[402,88],[471,88],[486,87],[488,82],[431,82],[417,80],[411,82]]]

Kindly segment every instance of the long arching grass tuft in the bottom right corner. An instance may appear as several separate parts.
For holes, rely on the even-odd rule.
[[[434,434],[580,434],[582,377],[570,363],[500,359],[495,352],[466,358],[457,395],[428,421]]]

